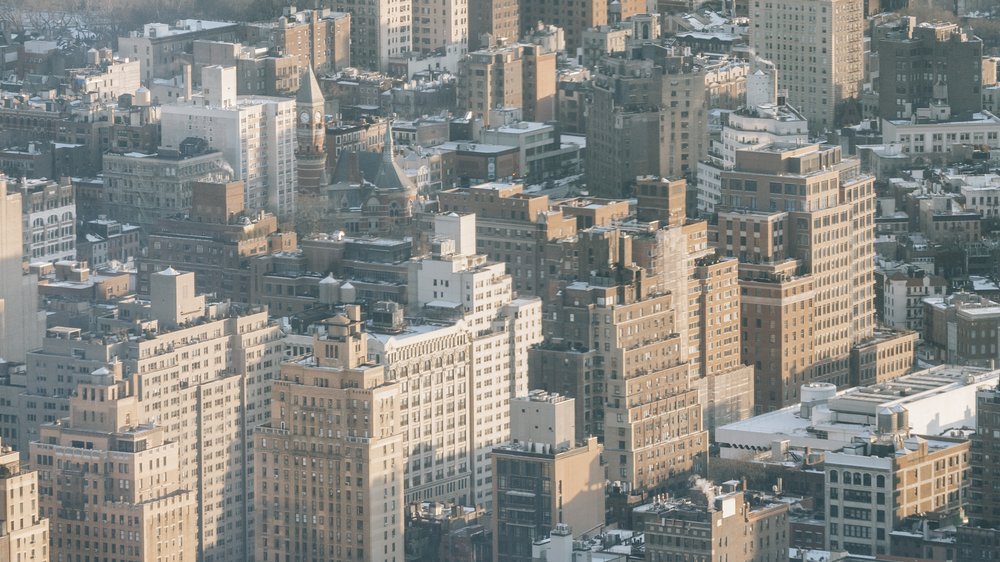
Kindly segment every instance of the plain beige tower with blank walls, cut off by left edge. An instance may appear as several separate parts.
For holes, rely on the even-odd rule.
[[[0,357],[24,361],[41,346],[44,313],[38,310],[38,277],[24,268],[24,209],[20,191],[8,192],[0,175]]]

